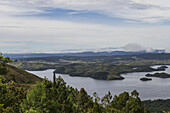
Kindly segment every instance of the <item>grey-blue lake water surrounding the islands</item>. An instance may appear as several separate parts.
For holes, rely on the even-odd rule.
[[[157,67],[157,66],[154,66]],[[53,69],[45,71],[28,71],[39,77],[44,78],[46,76],[49,80],[52,80]],[[165,71],[170,74],[170,66]],[[134,72],[122,74],[124,80],[95,80],[89,77],[70,77],[69,75],[56,74],[61,76],[67,85],[74,88],[84,88],[88,94],[93,95],[93,92],[97,92],[99,97],[103,97],[108,91],[112,95],[118,95],[124,91],[131,92],[137,90],[142,100],[148,99],[167,99],[170,98],[170,78],[155,78],[152,77],[152,81],[141,81],[140,78],[145,77],[149,72]],[[156,73],[156,72],[150,72]]]

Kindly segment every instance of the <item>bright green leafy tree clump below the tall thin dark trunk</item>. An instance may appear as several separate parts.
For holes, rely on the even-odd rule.
[[[21,104],[21,112],[34,110],[38,113],[63,113],[76,111],[77,90],[66,86],[66,83],[59,77],[56,84],[45,80],[32,87]]]

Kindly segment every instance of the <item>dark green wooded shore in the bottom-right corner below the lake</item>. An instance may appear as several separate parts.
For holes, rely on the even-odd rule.
[[[149,109],[152,113],[169,113],[170,99],[162,100],[146,100],[142,102],[143,106]]]

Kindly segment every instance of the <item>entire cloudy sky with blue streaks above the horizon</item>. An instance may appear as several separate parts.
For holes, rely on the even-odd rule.
[[[0,52],[170,51],[169,0],[0,0]]]

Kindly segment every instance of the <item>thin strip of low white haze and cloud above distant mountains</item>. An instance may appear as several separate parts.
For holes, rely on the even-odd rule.
[[[160,51],[161,53],[170,53],[169,49],[166,48],[149,48],[149,47],[144,47],[141,46],[139,44],[136,43],[131,43],[131,44],[127,44],[125,46],[122,47],[105,47],[105,48],[91,48],[91,49],[63,49],[63,50],[56,50],[56,51],[34,51],[34,52],[6,52],[3,54],[38,54],[38,53],[47,53],[47,54],[62,54],[62,53],[83,53],[83,52],[94,52],[94,53],[98,53],[98,52],[118,52],[118,51],[122,51],[122,52],[147,52],[147,53],[153,53],[153,52],[158,52]],[[159,52],[158,52],[159,53]]]

